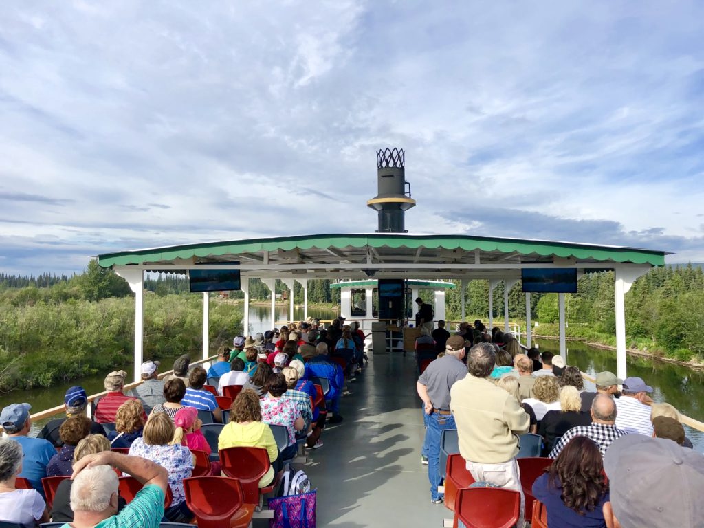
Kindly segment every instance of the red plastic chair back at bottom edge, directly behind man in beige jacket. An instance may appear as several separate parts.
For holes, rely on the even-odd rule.
[[[458,520],[467,528],[512,528],[521,512],[521,494],[513,489],[460,489],[455,511]]]

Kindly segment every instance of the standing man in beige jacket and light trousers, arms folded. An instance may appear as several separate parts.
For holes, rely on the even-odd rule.
[[[518,436],[528,432],[530,418],[513,394],[489,379],[496,364],[494,346],[479,343],[470,348],[469,375],[450,391],[450,408],[457,422],[460,453],[477,482],[489,482],[521,494],[523,526],[525,498],[516,455]]]

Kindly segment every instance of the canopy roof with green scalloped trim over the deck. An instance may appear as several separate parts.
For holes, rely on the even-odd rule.
[[[242,260],[276,263],[301,254],[315,263],[347,260],[363,265],[367,249],[375,258],[394,262],[413,256],[415,262],[428,262],[433,254],[447,256],[454,263],[475,262],[479,251],[482,263],[553,263],[554,258],[572,258],[580,263],[633,263],[663,265],[667,251],[575,242],[476,237],[439,234],[309,234],[232,241],[203,242],[182,246],[137,249],[105,253],[98,257],[103,268],[123,265],[176,265],[177,263],[218,263]],[[403,251],[406,250],[406,251]],[[432,251],[435,250],[435,251]],[[264,252],[268,252],[265,257]],[[422,254],[425,252],[425,254]],[[275,253],[272,255],[271,253]],[[425,258],[424,258],[425,257]],[[410,258],[414,261],[414,258]],[[326,260],[327,259],[327,260]],[[367,259],[368,262],[368,259]]]

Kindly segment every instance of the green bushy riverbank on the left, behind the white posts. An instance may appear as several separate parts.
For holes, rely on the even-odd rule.
[[[16,299],[14,299],[16,301]],[[201,355],[202,297],[144,297],[144,357]],[[241,307],[210,303],[210,348],[241,332]],[[0,297],[0,391],[30,389],[132,362],[134,296],[11,302]]]

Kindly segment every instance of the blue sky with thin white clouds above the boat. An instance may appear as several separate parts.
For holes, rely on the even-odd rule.
[[[0,10],[0,272],[373,232],[704,261],[700,1],[25,0]]]

